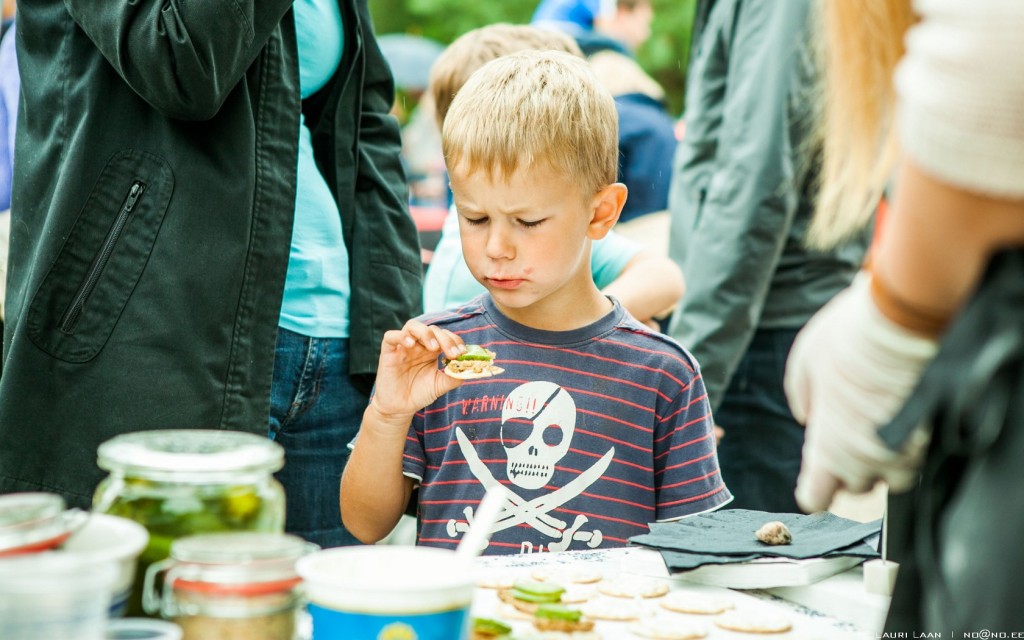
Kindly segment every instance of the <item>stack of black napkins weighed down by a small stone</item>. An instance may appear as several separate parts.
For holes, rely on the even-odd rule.
[[[755,537],[761,525],[774,520],[790,528],[792,544],[766,545]],[[649,534],[634,536],[630,542],[660,551],[671,569],[685,570],[777,556],[872,558],[878,552],[864,541],[881,527],[882,520],[856,522],[828,512],[803,515],[727,509],[675,522],[653,522]]]

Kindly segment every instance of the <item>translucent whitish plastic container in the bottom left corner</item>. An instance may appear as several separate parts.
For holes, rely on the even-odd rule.
[[[102,640],[114,562],[46,552],[0,559],[0,638]]]

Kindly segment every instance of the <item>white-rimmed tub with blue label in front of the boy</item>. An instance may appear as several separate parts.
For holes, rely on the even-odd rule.
[[[318,551],[297,565],[313,640],[469,635],[472,563],[428,547],[368,546]]]

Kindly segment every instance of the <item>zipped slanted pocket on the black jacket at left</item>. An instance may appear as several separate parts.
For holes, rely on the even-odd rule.
[[[47,353],[85,362],[99,353],[153,252],[174,186],[163,159],[135,150],[106,164],[29,309]]]

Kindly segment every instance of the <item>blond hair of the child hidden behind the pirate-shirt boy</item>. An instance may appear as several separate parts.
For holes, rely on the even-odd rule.
[[[527,25],[498,23],[466,32],[445,47],[430,68],[427,86],[434,100],[438,128],[444,122],[452,100],[474,71],[490,60],[526,50],[565,51],[583,57],[570,36],[559,31]]]

